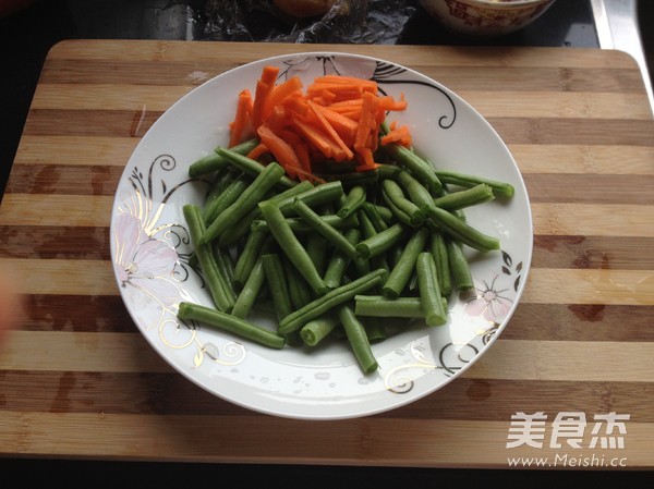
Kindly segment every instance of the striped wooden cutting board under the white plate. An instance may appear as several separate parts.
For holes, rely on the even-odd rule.
[[[510,327],[462,378],[389,413],[318,423],[253,413],[173,371],[128,315],[109,256],[117,183],[168,107],[228,69],[316,50],[413,68],[469,101],[516,157],[535,232]],[[1,262],[26,309],[0,351],[0,454],[499,468],[594,456],[652,468],[653,188],[651,108],[635,62],[617,51],[61,42],[0,208]],[[526,430],[512,424],[520,413],[544,416],[536,447],[509,443]],[[610,413],[615,430],[594,433]]]

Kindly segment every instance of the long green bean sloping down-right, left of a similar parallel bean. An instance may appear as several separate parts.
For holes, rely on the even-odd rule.
[[[259,208],[280,248],[286,253],[300,274],[304,277],[314,293],[324,294],[327,292],[327,285],[325,285],[314,262],[291,230],[279,207],[270,201],[263,201],[259,203]]]

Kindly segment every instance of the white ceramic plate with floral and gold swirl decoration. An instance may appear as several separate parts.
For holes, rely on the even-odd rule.
[[[404,94],[409,107],[393,117],[411,126],[416,150],[443,169],[516,187],[510,201],[497,199],[467,209],[473,227],[498,236],[501,243],[501,252],[470,253],[476,294],[452,297],[450,320],[443,327],[407,329],[374,344],[379,363],[374,375],[362,375],[347,342],[316,351],[270,350],[177,319],[180,301],[211,305],[201,277],[189,266],[191,247],[182,206],[202,205],[207,190],[206,181],[189,179],[189,164],[227,144],[237,96],[244,87],[254,93],[266,64],[280,66],[282,77],[300,75],[305,85],[324,73],[338,73],[373,78],[382,90],[398,98]],[[474,109],[415,71],[334,52],[256,61],[184,96],[134,150],[111,216],[111,257],[120,293],[149,344],[186,378],[225,400],[261,413],[304,419],[382,413],[461,376],[488,350],[516,309],[530,268],[532,236],[529,198],[516,162]]]

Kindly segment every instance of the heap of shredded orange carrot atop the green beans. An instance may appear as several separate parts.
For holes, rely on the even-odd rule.
[[[407,109],[403,94],[399,99],[385,95],[375,81],[354,76],[323,75],[306,87],[298,76],[280,83],[278,76],[278,68],[264,66],[254,97],[247,90],[239,96],[230,146],[254,131],[261,143],[249,157],[271,155],[289,176],[324,182],[312,173],[316,164],[347,163],[347,171],[370,171],[379,166],[379,145],[411,145],[405,125],[392,122],[379,135],[389,112]]]

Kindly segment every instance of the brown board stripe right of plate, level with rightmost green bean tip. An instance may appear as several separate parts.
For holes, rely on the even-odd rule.
[[[534,203],[654,204],[654,175],[525,173]]]

